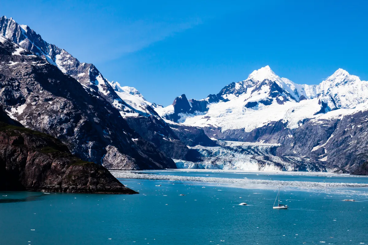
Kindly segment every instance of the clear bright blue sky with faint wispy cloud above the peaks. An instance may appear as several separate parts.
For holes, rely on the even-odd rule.
[[[368,1],[1,1],[102,75],[167,106],[202,99],[269,65],[318,84],[338,68],[368,80]]]

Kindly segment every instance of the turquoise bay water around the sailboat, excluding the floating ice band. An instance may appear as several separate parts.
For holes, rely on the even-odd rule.
[[[142,173],[368,183],[367,177],[183,171]],[[121,179],[137,195],[0,192],[0,244],[361,244],[367,187],[282,190],[206,182]],[[161,186],[156,186],[161,185]],[[203,188],[205,187],[205,188]],[[185,196],[180,196],[185,194]],[[343,199],[355,199],[345,202]],[[238,205],[241,202],[247,206]],[[167,204],[167,205],[166,205]],[[109,239],[111,238],[111,239]],[[325,242],[325,243],[322,243]]]

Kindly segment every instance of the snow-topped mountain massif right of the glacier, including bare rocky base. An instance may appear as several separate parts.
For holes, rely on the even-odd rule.
[[[286,162],[299,158],[328,171],[353,172],[368,159],[367,103],[368,82],[343,69],[307,85],[266,66],[204,100],[183,94],[157,110],[173,123],[200,127],[210,138],[280,144],[273,155]]]

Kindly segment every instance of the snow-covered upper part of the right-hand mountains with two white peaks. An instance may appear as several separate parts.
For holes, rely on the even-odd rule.
[[[367,101],[368,82],[343,69],[318,85],[307,85],[280,78],[265,66],[253,71],[246,80],[227,85],[218,94],[203,100],[187,100],[182,95],[156,111],[163,118],[184,125],[251,131],[280,119],[293,129],[304,119],[318,118],[337,109],[354,109]]]

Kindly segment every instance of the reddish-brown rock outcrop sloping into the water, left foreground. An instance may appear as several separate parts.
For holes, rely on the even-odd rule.
[[[0,190],[137,193],[105,167],[72,155],[56,138],[19,126],[1,107],[0,120]]]

